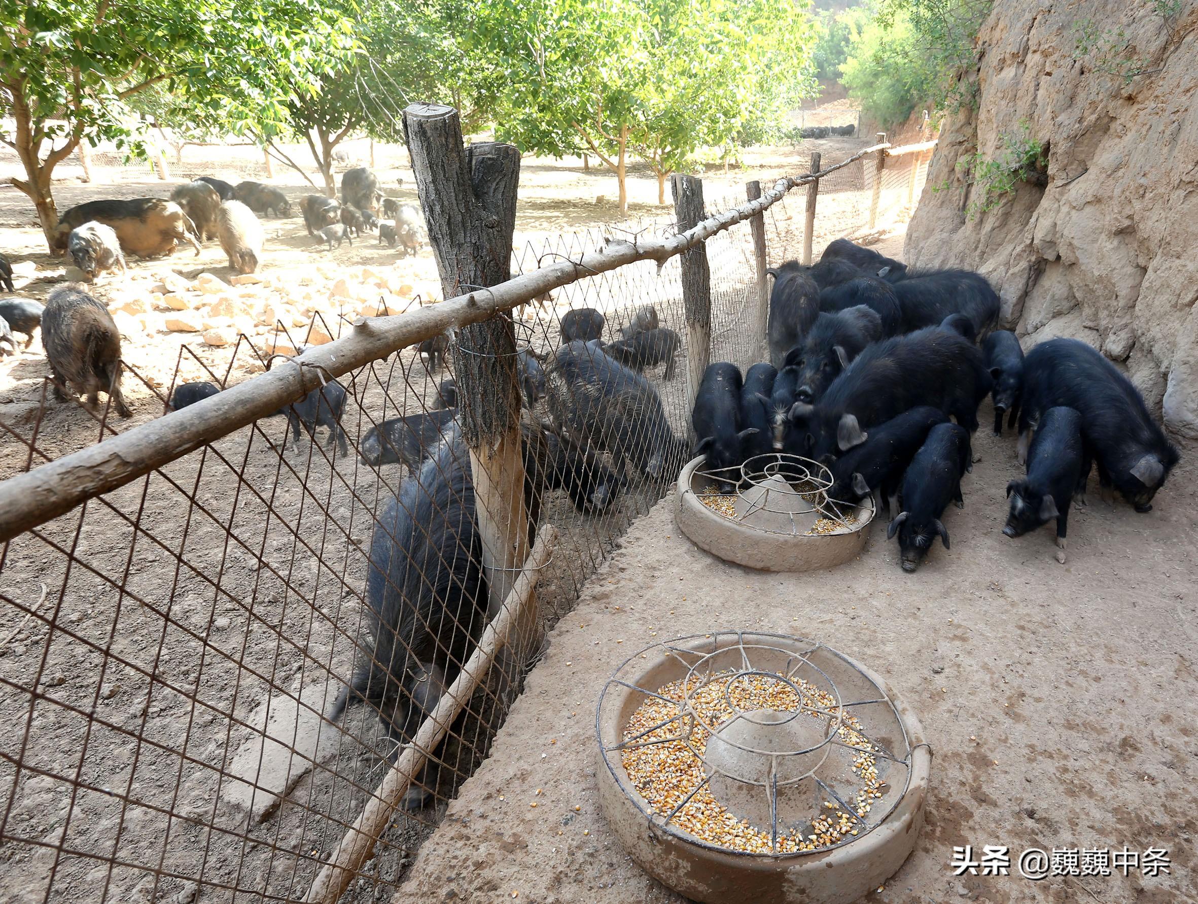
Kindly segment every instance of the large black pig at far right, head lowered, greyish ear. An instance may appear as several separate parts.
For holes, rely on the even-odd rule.
[[[1025,459],[1028,434],[1045,411],[1057,405],[1076,409],[1099,482],[1103,488],[1114,484],[1137,512],[1150,512],[1152,496],[1180,456],[1131,381],[1077,339],[1049,339],[1033,348],[1023,362],[1023,381],[1019,459]]]

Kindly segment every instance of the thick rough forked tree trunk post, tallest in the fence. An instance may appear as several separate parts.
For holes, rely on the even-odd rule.
[[[508,279],[520,151],[494,141],[464,146],[458,110],[441,104],[410,104],[404,110],[404,133],[443,296],[452,299]],[[489,616],[507,598],[516,569],[528,556],[515,355],[515,335],[506,315],[464,327],[458,335],[455,376],[462,435],[470,446]],[[526,645],[533,641],[534,626],[536,605],[530,605],[513,638],[518,662],[524,662]]]

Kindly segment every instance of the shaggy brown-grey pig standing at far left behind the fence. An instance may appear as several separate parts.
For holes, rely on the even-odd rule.
[[[42,345],[54,378],[54,397],[66,402],[63,387],[98,403],[108,393],[121,417],[133,412],[121,396],[121,335],[103,303],[75,285],[50,293],[42,314]]]

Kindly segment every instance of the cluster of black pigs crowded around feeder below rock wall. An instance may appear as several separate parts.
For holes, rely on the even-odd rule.
[[[1099,351],[1049,339],[1024,356],[1014,333],[994,330],[999,299],[979,273],[908,270],[845,239],[815,266],[770,272],[770,361],[744,374],[710,364],[692,411],[696,451],[722,492],[755,456],[813,459],[830,471],[833,500],[873,494],[888,506],[887,537],[897,534],[900,564],[915,571],[937,537],[949,548],[940,516],[950,501],[964,506],[969,436],[990,394],[994,433],[1004,415],[1017,422],[1027,465],[1006,487],[1003,534],[1055,519],[1064,562],[1069,506],[1085,504],[1093,464],[1103,490],[1148,512],[1178,462],[1139,392]]]

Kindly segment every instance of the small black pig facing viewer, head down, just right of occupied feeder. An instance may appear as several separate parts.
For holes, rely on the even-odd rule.
[[[887,528],[887,540],[898,535],[898,561],[906,572],[915,571],[936,537],[949,549],[949,531],[940,522],[950,500],[964,507],[961,477],[972,460],[969,434],[955,423],[940,423],[927,433],[898,490],[902,511]]]

